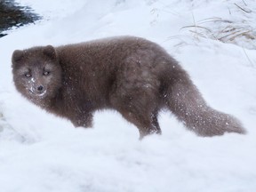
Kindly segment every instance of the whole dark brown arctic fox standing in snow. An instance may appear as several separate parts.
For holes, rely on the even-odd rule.
[[[245,133],[235,117],[206,104],[162,47],[140,37],[16,50],[12,73],[23,96],[76,127],[92,127],[93,112],[110,108],[135,124],[143,138],[161,133],[157,115],[168,108],[200,136]]]

